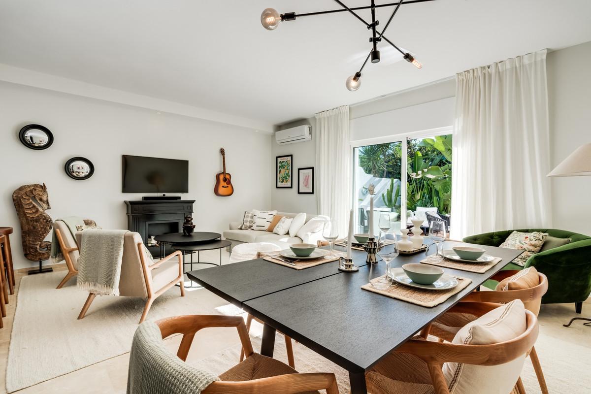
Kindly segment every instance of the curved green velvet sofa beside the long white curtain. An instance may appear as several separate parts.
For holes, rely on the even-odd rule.
[[[514,230],[478,234],[463,239],[476,245],[500,246]],[[542,298],[543,304],[574,302],[580,313],[583,301],[591,294],[591,237],[556,229],[518,229],[518,232],[543,232],[557,238],[570,238],[570,243],[544,250],[531,256],[525,268],[535,269],[548,277],[548,292]],[[523,269],[509,263],[504,269]],[[485,286],[495,288],[497,282],[487,281]]]

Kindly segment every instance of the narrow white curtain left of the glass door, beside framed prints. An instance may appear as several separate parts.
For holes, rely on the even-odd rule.
[[[351,194],[349,106],[316,114],[316,193],[318,213],[339,222],[339,236],[349,226]]]

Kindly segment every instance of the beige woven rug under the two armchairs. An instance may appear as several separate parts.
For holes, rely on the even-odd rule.
[[[17,310],[8,353],[7,392],[14,392],[90,364],[127,353],[145,299],[97,297],[86,317],[77,320],[88,297],[76,282],[56,289],[65,272],[25,276],[18,291]],[[206,289],[177,286],[158,297],[147,320],[185,315],[216,314],[228,304]]]

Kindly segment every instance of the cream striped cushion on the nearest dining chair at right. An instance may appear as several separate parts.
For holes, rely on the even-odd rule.
[[[525,307],[520,299],[502,305],[460,328],[453,344],[487,345],[512,340],[527,329]],[[482,366],[443,364],[450,394],[510,393],[525,360],[525,354],[505,364]]]

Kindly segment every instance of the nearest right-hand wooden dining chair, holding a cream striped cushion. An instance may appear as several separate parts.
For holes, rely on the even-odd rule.
[[[514,302],[520,301],[507,305],[460,302],[452,310],[480,317],[491,311],[494,313],[497,308],[507,308]],[[368,392],[449,394],[451,388],[457,393],[525,394],[519,375],[525,354],[538,337],[538,321],[532,312],[522,306],[521,311],[521,317],[525,318],[525,331],[498,343],[466,344],[469,340],[441,343],[422,337],[408,340],[366,373]],[[504,314],[505,310],[496,313]],[[466,333],[471,335],[471,328]]]

